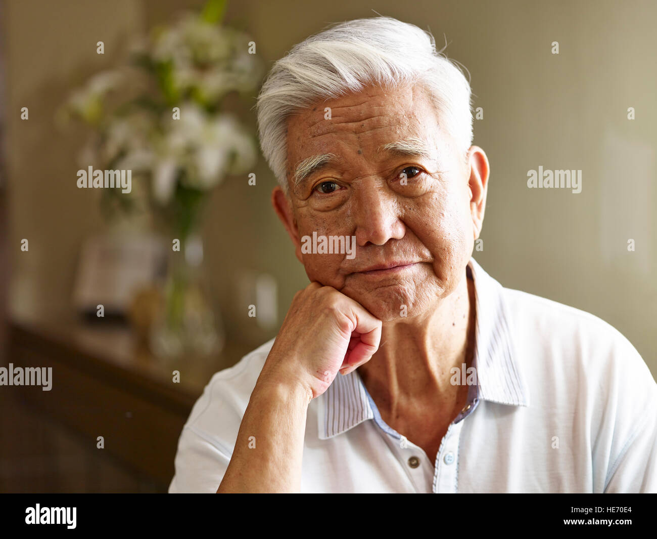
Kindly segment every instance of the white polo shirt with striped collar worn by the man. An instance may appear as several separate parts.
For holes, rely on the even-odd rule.
[[[357,371],[308,406],[302,492],[657,492],[657,384],[599,318],[503,288],[470,259],[476,385],[436,462],[385,424]],[[217,372],[169,492],[216,492],[273,340]],[[410,436],[412,438],[412,436]]]

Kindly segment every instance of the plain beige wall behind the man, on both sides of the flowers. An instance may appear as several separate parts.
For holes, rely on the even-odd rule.
[[[181,3],[185,5],[185,3]],[[55,104],[97,68],[109,66],[124,39],[166,20],[165,3],[9,2],[10,252],[14,308],[64,309],[79,243],[102,221],[76,189],[81,132],[55,134]],[[189,3],[188,5],[196,5]],[[447,55],[472,75],[474,143],[491,178],[475,253],[504,286],[589,311],[616,326],[657,373],[657,4],[650,1],[378,1],[330,3],[245,0],[231,16],[246,22],[268,63],[328,22],[396,16],[430,28]],[[359,7],[359,6],[363,7]],[[367,7],[365,7],[367,5]],[[36,8],[35,6],[38,6]],[[104,39],[106,55],[94,46]],[[560,54],[551,54],[558,41]],[[30,120],[18,110],[30,107]],[[627,120],[627,107],[636,119]],[[255,126],[254,113],[244,118]],[[530,190],[527,171],[582,170],[579,194]],[[261,160],[258,185],[231,179],[216,193],[206,222],[208,265],[227,326],[254,343],[271,336],[246,328],[236,307],[245,269],[279,281],[279,311],[307,284],[304,270],[269,207],[273,179]],[[30,238],[30,256],[20,239]],[[636,251],[627,251],[627,240]]]

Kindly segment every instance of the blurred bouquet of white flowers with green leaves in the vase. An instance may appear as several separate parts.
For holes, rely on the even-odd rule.
[[[254,134],[221,106],[230,93],[252,95],[263,74],[248,36],[220,24],[225,4],[210,0],[131,43],[125,64],[93,76],[59,113],[93,128],[83,168],[131,170],[132,196],[105,190],[103,209],[146,200],[181,240],[207,193],[258,155]]]

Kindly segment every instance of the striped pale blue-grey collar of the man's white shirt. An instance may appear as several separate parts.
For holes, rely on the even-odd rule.
[[[476,301],[474,361],[478,398],[506,405],[528,406],[529,390],[518,361],[509,309],[499,282],[470,258]],[[319,438],[327,440],[378,415],[357,371],[338,374],[319,397]]]

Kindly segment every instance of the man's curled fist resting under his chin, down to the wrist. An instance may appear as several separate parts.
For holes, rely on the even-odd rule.
[[[381,326],[350,297],[311,282],[294,295],[259,382],[299,384],[317,398],[338,371],[348,374],[371,359],[381,340]]]

